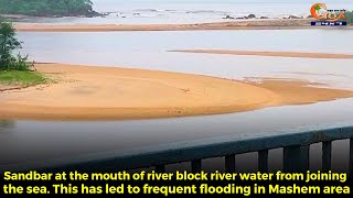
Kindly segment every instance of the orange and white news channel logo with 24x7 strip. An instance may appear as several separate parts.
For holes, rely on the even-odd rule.
[[[312,26],[346,26],[346,10],[329,10],[324,3],[315,3],[310,13],[318,21],[312,21]]]

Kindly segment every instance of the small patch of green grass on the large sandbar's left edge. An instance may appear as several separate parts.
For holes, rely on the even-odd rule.
[[[30,70],[0,70],[0,84],[9,86],[34,86],[46,82],[40,73]]]

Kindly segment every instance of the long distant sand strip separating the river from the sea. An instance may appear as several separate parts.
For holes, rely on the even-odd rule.
[[[194,24],[15,24],[20,32],[108,32],[108,31],[193,31],[193,30],[277,30],[313,29],[308,19],[234,20]],[[319,28],[319,26],[317,26]]]

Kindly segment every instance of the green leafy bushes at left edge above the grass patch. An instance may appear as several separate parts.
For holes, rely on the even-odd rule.
[[[12,55],[13,51],[21,47],[21,42],[15,37],[12,23],[0,20],[0,70],[30,69],[32,65],[28,63],[28,56]]]

